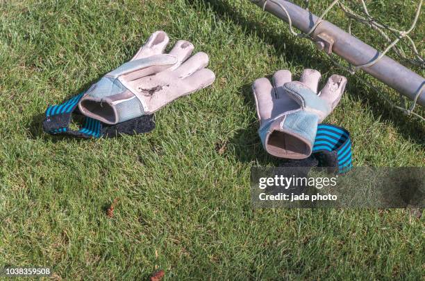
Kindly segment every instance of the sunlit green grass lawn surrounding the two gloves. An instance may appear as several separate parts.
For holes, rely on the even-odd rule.
[[[313,2],[320,11],[329,1]],[[379,15],[408,25],[413,1],[383,2]],[[146,280],[156,269],[167,280],[423,278],[424,219],[409,210],[251,209],[250,167],[278,163],[256,134],[251,82],[278,69],[341,73],[285,24],[248,1],[0,3],[0,266],[51,266],[56,280]],[[210,55],[213,87],[159,111],[142,136],[42,132],[47,105],[160,29]],[[424,35],[421,20],[414,38]],[[351,132],[355,165],[424,166],[423,123],[367,82],[349,76],[326,120]]]

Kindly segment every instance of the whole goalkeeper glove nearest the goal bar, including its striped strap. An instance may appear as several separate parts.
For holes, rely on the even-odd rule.
[[[260,120],[261,142],[278,158],[305,161],[313,154],[317,165],[344,173],[351,169],[351,140],[346,129],[321,124],[341,100],[347,78],[332,75],[317,92],[322,75],[305,69],[299,81],[292,81],[287,70],[273,75],[272,82],[260,78],[253,83],[253,94]]]

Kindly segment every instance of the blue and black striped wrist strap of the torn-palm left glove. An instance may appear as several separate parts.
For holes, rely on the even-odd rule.
[[[61,105],[52,105],[46,110],[46,118],[43,121],[43,130],[53,135],[68,135],[79,138],[100,138],[101,136],[115,137],[119,134],[143,134],[155,128],[152,115],[144,115],[127,120],[116,125],[106,125],[99,120],[85,117],[83,127],[78,130],[71,129],[72,114],[80,114],[78,102],[83,98],[81,93],[63,102]]]

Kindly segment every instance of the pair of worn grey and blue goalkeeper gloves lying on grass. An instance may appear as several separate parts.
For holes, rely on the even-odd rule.
[[[183,40],[164,53],[168,43],[166,33],[153,33],[129,62],[107,73],[87,91],[49,107],[44,131],[81,138],[150,132],[155,127],[154,112],[215,81],[213,71],[206,69],[206,53],[192,55],[193,44]],[[347,79],[333,75],[317,94],[320,76],[306,69],[300,81],[294,82],[289,71],[278,71],[274,85],[266,78],[254,82],[260,138],[273,156],[304,159],[314,153],[326,163],[346,167],[351,165],[348,132],[319,123],[338,105]],[[79,129],[70,127],[73,114],[85,118]]]

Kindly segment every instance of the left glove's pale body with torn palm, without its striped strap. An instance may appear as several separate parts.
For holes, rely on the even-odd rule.
[[[78,102],[81,113],[113,125],[152,114],[176,98],[213,84],[215,75],[206,69],[206,53],[190,57],[194,46],[181,40],[165,54],[168,42],[165,32],[153,33],[130,62],[85,92]]]

